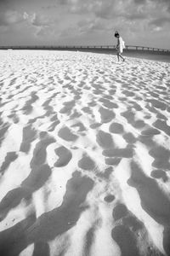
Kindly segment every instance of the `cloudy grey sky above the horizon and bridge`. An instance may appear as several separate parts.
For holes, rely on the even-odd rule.
[[[170,49],[170,0],[0,0],[0,45],[126,44]]]

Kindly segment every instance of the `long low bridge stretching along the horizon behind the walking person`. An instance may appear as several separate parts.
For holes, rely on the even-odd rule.
[[[49,45],[49,46],[0,46],[0,49],[116,49],[116,45]],[[160,49],[139,45],[126,45],[126,50],[143,50],[143,51],[159,51],[159,52],[169,52],[170,49]]]

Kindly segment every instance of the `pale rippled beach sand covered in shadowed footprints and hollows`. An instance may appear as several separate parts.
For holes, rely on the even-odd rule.
[[[0,51],[0,255],[170,255],[170,64]]]

